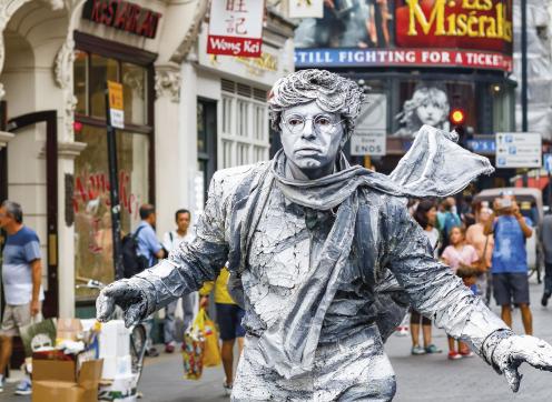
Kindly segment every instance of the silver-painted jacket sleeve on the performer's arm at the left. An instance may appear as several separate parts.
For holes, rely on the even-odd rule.
[[[199,290],[204,282],[213,281],[219,274],[228,257],[225,237],[226,208],[230,199],[228,190],[224,187],[224,178],[216,173],[205,211],[197,223],[195,240],[181,242],[168,259],[130,279],[139,283],[147,295],[148,314]]]

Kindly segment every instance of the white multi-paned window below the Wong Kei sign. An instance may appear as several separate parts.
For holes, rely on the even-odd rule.
[[[268,160],[266,91],[223,80],[221,168]]]

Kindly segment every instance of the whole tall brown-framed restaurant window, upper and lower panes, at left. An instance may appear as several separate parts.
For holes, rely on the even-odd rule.
[[[79,47],[79,46],[77,46]],[[95,48],[93,48],[95,49]],[[75,273],[103,283],[115,279],[110,214],[110,183],[106,131],[106,81],[122,83],[125,130],[116,131],[122,233],[139,223],[139,207],[151,202],[148,76],[152,64],[96,54],[90,47],[76,50],[76,120],[82,129],[75,141],[87,144],[75,160]],[[97,292],[78,289],[78,301],[92,300]]]

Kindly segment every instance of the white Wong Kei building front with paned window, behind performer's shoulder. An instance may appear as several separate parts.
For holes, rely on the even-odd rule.
[[[187,150],[188,159],[197,160],[197,169],[188,170],[193,218],[203,210],[216,170],[268,160],[267,94],[278,78],[294,70],[295,26],[270,8],[260,58],[207,54],[207,28],[201,26],[183,63],[184,120],[190,123],[187,135],[197,141],[197,148]]]

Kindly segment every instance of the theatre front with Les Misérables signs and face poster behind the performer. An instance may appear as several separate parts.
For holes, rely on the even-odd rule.
[[[515,128],[511,0],[338,3],[322,19],[302,20],[295,61],[365,88],[351,149],[357,162],[390,172],[422,124],[459,128],[464,144],[494,154],[474,140]],[[377,135],[384,142],[375,152],[357,147]]]

